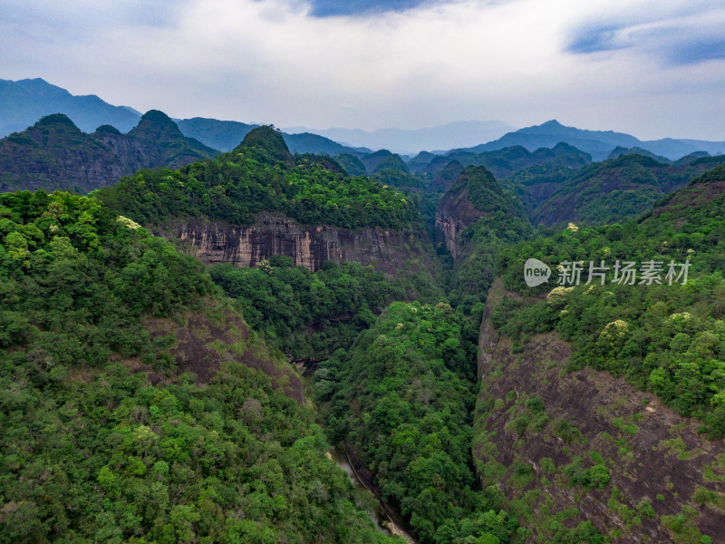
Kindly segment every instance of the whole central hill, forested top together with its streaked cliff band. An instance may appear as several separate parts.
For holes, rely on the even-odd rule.
[[[411,260],[431,266],[430,242],[400,192],[297,159],[278,131],[260,127],[218,160],[140,172],[98,195],[208,263],[286,255],[313,271],[351,260],[393,275]]]

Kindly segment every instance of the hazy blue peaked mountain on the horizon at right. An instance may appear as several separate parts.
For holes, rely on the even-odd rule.
[[[673,140],[665,138],[654,141],[640,141],[630,134],[614,131],[587,131],[575,127],[566,127],[559,121],[546,121],[543,124],[508,132],[495,141],[488,141],[477,146],[449,151],[451,154],[459,151],[479,153],[481,151],[495,151],[516,145],[523,146],[529,151],[538,148],[550,148],[558,142],[565,141],[575,148],[589,153],[594,160],[604,160],[616,147],[625,149],[639,147],[655,155],[662,155],[668,159],[680,159],[695,151],[708,151],[711,154],[725,149],[725,141],[698,141]]]

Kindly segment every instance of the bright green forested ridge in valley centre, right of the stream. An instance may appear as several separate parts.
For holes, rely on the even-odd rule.
[[[333,440],[353,444],[421,542],[506,542],[516,529],[470,453],[475,344],[447,304],[395,303],[315,374]]]

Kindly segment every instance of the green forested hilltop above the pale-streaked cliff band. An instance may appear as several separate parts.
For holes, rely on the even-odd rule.
[[[250,225],[260,211],[304,224],[407,228],[418,218],[411,199],[364,177],[350,178],[333,160],[293,157],[271,127],[250,131],[237,148],[179,170],[141,170],[96,194],[144,225],[173,218]]]

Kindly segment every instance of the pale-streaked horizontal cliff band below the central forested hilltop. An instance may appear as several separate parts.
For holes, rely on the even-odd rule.
[[[255,267],[273,255],[286,255],[313,272],[326,260],[349,260],[388,275],[395,275],[408,260],[422,257],[427,262],[424,246],[430,243],[424,234],[412,230],[299,225],[294,219],[266,212],[258,214],[256,224],[249,227],[192,219],[159,228],[155,234],[179,239],[182,251],[208,264]]]

